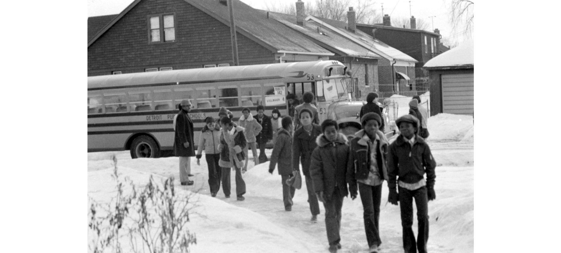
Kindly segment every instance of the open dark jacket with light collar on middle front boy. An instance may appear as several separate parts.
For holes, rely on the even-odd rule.
[[[388,139],[385,134],[378,131],[380,140],[376,143],[376,163],[380,180],[388,180],[388,168],[386,167],[386,156],[388,153]],[[351,153],[347,165],[347,182],[356,184],[356,180],[367,179],[370,172],[370,138],[364,129],[356,133],[356,137],[351,140]]]

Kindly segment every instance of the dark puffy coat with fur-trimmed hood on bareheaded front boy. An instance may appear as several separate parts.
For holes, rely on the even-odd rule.
[[[337,139],[329,142],[321,134],[316,138],[316,143],[318,143],[318,147],[312,153],[310,165],[314,191],[316,193],[323,191],[325,200],[329,201],[337,186],[341,196],[347,196],[347,164],[351,152],[347,144],[347,137],[342,133],[337,133]]]

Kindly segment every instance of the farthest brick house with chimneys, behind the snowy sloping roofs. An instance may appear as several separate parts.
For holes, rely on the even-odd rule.
[[[384,41],[393,48],[415,58],[417,63],[414,72],[417,79],[420,79],[417,80],[416,86],[420,87],[420,90],[423,88],[427,90],[429,86],[423,78],[426,79],[428,73],[421,68],[426,62],[441,53],[439,50],[440,31],[438,29],[435,29],[434,32],[417,30],[415,16],[411,16],[411,29],[391,26],[390,16],[387,14],[384,15],[383,22],[383,24],[376,25],[356,24],[356,27],[358,30],[374,36],[375,39]]]

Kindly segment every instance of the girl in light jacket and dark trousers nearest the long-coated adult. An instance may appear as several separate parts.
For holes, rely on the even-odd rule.
[[[222,168],[218,165],[220,161],[220,126],[216,124],[214,118],[206,117],[205,127],[199,138],[199,148],[197,149],[197,165],[201,165],[200,159],[205,149],[206,163],[209,168],[210,195],[215,197],[220,190],[220,179],[222,179]],[[229,170],[229,168],[228,168]],[[226,193],[226,191],[224,192]]]

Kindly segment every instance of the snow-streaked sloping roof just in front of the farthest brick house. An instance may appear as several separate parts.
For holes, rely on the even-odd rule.
[[[389,60],[395,59],[395,60],[403,60],[406,62],[417,62],[417,60],[413,59],[413,57],[410,57],[409,55],[403,53],[402,51],[392,48],[391,46],[383,43],[380,40],[372,38],[372,36],[366,34],[366,32],[363,32],[358,29],[356,29],[355,32],[347,30],[346,27],[348,26],[348,24],[346,22],[330,20],[329,18],[321,18],[315,16],[308,16],[306,17],[306,20],[307,21],[313,20],[315,22],[318,22],[319,25],[323,25],[323,26],[328,25],[334,27],[335,29],[338,30],[339,33],[345,35],[347,38],[355,39],[358,41],[358,43],[367,45],[367,47],[370,48],[370,50],[376,52],[377,54],[380,54],[384,58],[388,58]]]

